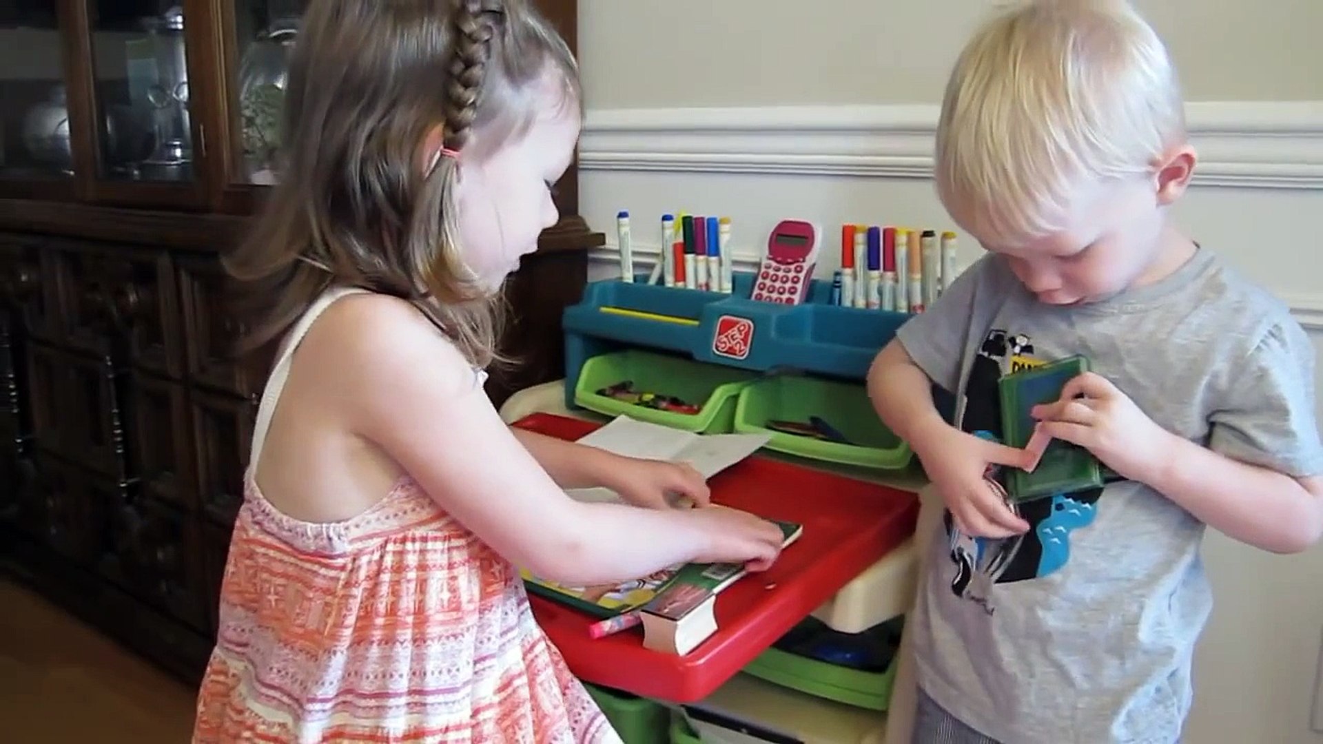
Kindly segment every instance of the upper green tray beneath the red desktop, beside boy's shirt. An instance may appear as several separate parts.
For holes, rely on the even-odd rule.
[[[898,666],[900,654],[892,658],[886,671],[860,671],[771,647],[758,654],[744,671],[807,695],[886,711]]]

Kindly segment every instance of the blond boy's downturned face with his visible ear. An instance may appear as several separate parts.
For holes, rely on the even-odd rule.
[[[980,220],[964,224],[986,250],[1005,256],[1020,282],[1045,304],[1082,304],[1148,283],[1171,242],[1166,208],[1184,193],[1193,151],[1180,148],[1152,175],[1081,188],[1057,224],[1060,232],[998,244]]]

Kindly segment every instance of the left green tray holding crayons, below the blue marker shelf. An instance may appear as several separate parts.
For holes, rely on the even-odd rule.
[[[692,359],[626,349],[590,357],[579,371],[574,402],[607,416],[628,416],[699,434],[729,434],[736,414],[736,398],[757,373]],[[634,389],[677,397],[699,406],[699,413],[675,413],[634,405],[598,395],[630,380]]]

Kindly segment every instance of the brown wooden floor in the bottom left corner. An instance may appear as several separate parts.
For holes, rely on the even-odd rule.
[[[0,577],[0,739],[187,743],[193,690]]]

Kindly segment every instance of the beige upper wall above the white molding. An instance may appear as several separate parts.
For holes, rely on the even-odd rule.
[[[1193,101],[1323,98],[1323,3],[1134,0]],[[934,103],[1004,0],[578,0],[593,107]]]

